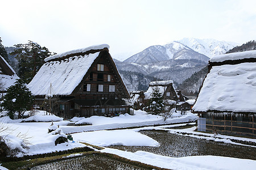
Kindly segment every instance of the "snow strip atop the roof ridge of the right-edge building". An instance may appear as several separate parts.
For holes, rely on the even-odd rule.
[[[210,58],[210,62],[222,62],[226,60],[236,60],[236,59],[244,59],[244,58],[256,58],[256,50],[213,56],[212,58]]]

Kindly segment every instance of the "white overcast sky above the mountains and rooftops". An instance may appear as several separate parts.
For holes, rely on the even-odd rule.
[[[140,52],[184,37],[256,40],[256,1],[1,0],[0,37],[61,53],[109,44],[110,54]]]

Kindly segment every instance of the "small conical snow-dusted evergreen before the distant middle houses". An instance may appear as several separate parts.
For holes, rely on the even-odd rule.
[[[151,114],[159,114],[164,110],[163,94],[158,87],[154,87],[148,107],[148,112]]]

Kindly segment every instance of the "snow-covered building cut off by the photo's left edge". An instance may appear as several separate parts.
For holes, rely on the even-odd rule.
[[[1,95],[6,92],[7,88],[12,86],[16,79],[19,79],[13,68],[0,56],[0,92]]]

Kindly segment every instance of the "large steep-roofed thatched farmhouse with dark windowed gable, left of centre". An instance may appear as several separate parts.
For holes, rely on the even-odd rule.
[[[28,84],[35,104],[64,118],[130,113],[130,98],[117,67],[102,44],[44,59]]]

